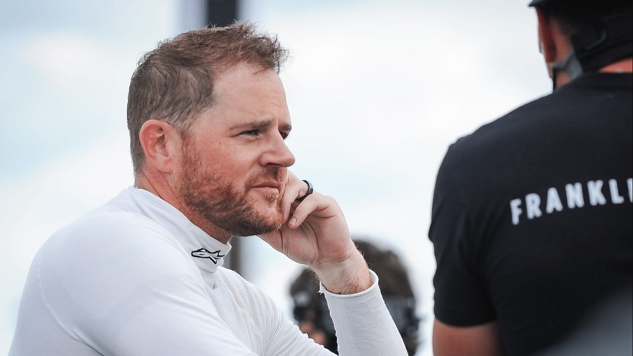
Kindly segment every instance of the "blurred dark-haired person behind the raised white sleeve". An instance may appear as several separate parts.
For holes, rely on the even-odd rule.
[[[387,309],[396,322],[408,354],[414,355],[420,345],[420,319],[415,314],[416,299],[406,267],[393,251],[384,250],[363,239],[353,239],[369,268],[379,276],[380,291]],[[319,293],[318,280],[310,269],[301,270],[291,284],[290,295],[294,303],[292,312],[299,329],[317,343],[338,354],[330,311],[325,296]]]

